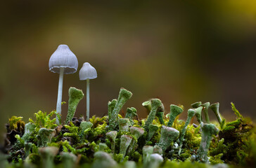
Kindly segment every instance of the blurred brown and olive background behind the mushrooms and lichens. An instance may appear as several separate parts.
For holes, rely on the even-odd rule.
[[[69,87],[86,92],[79,69],[89,62],[91,116],[107,113],[120,87],[133,92],[125,104],[146,117],[141,103],[219,102],[228,120],[233,102],[243,116],[256,118],[256,1],[6,1],[0,7],[0,132],[11,116],[25,122],[39,110],[56,109],[58,73],[49,58],[67,44],[79,61],[65,75]],[[75,116],[85,114],[86,99]],[[63,105],[63,120],[68,104]],[[210,116],[215,120],[215,116]],[[2,138],[2,137],[1,137]]]

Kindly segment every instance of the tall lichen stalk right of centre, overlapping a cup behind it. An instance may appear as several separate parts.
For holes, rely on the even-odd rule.
[[[162,106],[162,102],[160,101],[160,99],[151,99],[151,106],[152,106],[151,113],[149,113],[144,126],[144,129],[146,130],[146,132],[148,132],[149,125],[153,123],[155,115],[158,112],[158,108]]]

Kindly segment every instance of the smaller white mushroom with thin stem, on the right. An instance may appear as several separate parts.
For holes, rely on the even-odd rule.
[[[94,66],[91,66],[89,62],[85,62],[82,66],[82,68],[79,71],[79,79],[80,80],[87,80],[87,120],[89,120],[89,106],[90,106],[90,85],[89,85],[89,80],[97,78],[97,71],[94,68]]]

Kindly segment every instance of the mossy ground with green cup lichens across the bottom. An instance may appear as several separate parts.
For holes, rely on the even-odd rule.
[[[55,111],[39,111],[27,124],[22,117],[13,116],[6,124],[4,153],[0,153],[1,166],[255,166],[254,126],[241,116],[233,103],[231,109],[237,118],[230,122],[219,118],[219,123],[207,123],[207,116],[203,118],[206,112],[201,115],[201,103],[193,104],[185,122],[178,116],[184,108],[172,105],[171,113],[165,115],[167,111],[159,99],[151,99],[153,103],[147,119],[135,120],[135,108],[127,110],[126,118],[119,115],[122,105],[132,96],[128,90],[121,89],[120,93],[113,106],[108,105],[108,116],[103,118],[93,116],[89,121],[69,118],[66,125],[56,125]],[[174,107],[179,110],[177,113]],[[213,110],[219,115],[216,108]],[[193,115],[189,116],[191,111]],[[194,123],[194,118],[200,123]]]

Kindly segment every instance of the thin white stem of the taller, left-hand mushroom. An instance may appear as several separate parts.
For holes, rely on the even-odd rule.
[[[63,90],[63,74],[64,68],[60,68],[60,78],[58,79],[58,99],[56,112],[61,115],[61,101],[62,101],[62,90]],[[61,120],[56,116],[56,124],[60,125]]]

